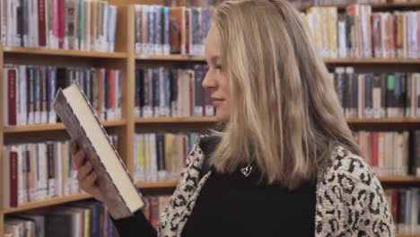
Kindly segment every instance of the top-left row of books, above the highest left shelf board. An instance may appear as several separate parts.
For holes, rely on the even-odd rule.
[[[114,51],[117,6],[102,0],[4,0],[1,40],[10,47]]]

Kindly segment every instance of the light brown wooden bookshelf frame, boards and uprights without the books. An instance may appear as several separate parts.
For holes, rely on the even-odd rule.
[[[14,48],[3,47],[0,44],[0,73],[3,75],[3,66],[6,63],[39,64],[39,65],[68,65],[68,66],[106,66],[118,68],[123,75],[123,118],[115,121],[104,121],[103,125],[111,129],[112,133],[118,134],[119,147],[118,153],[123,157],[128,171],[133,175],[133,153],[134,136],[137,130],[162,131],[167,128],[179,129],[188,127],[201,127],[203,129],[211,127],[216,123],[214,117],[188,117],[188,118],[136,118],[133,108],[135,108],[135,69],[136,63],[165,63],[168,65],[179,65],[180,63],[204,63],[204,57],[184,56],[184,55],[160,55],[160,56],[139,56],[136,55],[133,46],[135,44],[135,19],[134,8],[129,4],[162,4],[159,0],[110,0],[110,4],[118,5],[118,27],[116,39],[116,51],[113,53],[79,50],[61,50],[47,48]],[[373,4],[374,9],[391,9],[395,7],[420,6],[420,3],[408,4]],[[338,6],[344,9],[345,6]],[[302,8],[306,10],[307,8]],[[328,65],[354,65],[354,66],[420,66],[420,59],[401,59],[401,58],[324,58]],[[3,93],[3,83],[0,83],[0,93]],[[3,96],[3,94],[1,95]],[[3,97],[2,97],[3,98]],[[418,125],[420,127],[420,118],[347,118],[350,125],[363,126],[407,126]],[[3,110],[0,110],[0,124],[3,125]],[[65,132],[65,127],[58,124],[51,125],[32,125],[19,127],[0,126],[0,145],[3,147],[4,140],[8,141],[11,137],[27,136],[36,134],[40,137],[51,138],[50,132]],[[53,133],[55,135],[55,133]],[[0,151],[3,157],[3,149]],[[0,162],[0,177],[3,167]],[[379,177],[384,183],[404,183],[420,184],[420,178],[415,176],[389,176]],[[151,190],[170,190],[175,189],[177,180],[161,182],[138,182],[136,183],[144,194]],[[0,189],[0,202],[3,204],[3,189]],[[36,201],[24,204],[17,208],[4,209],[0,206],[0,233],[3,233],[4,215],[19,213],[32,209],[39,209],[48,206],[56,206],[92,198],[88,194],[77,194],[60,198],[49,198],[42,201]],[[420,237],[417,235],[398,235],[400,237]]]

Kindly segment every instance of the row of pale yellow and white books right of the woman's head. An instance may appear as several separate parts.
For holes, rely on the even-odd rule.
[[[420,12],[372,13],[371,5],[311,7],[306,14],[321,57],[420,57]]]

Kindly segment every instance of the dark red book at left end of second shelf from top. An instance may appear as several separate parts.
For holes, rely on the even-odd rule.
[[[17,125],[16,111],[16,69],[7,70],[7,125]]]

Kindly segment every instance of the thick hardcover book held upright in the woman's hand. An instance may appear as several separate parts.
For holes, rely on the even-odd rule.
[[[77,83],[58,90],[54,110],[68,134],[92,162],[109,214],[119,219],[142,208],[144,202],[140,192]]]

